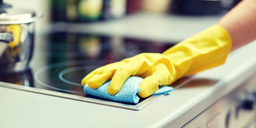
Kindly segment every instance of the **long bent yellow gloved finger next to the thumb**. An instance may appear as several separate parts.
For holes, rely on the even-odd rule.
[[[143,68],[141,68],[143,67]],[[124,82],[133,75],[142,74],[146,72],[147,64],[145,61],[132,61],[119,68],[114,74],[109,86],[108,93],[111,95],[116,94],[122,88]]]

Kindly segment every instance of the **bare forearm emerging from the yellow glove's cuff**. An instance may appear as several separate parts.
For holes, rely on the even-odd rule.
[[[256,39],[256,0],[243,0],[218,22],[232,37],[232,50]]]

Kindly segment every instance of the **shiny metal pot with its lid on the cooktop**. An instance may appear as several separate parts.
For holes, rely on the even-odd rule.
[[[28,68],[34,45],[34,22],[42,17],[33,11],[13,8],[0,0],[0,73]]]

